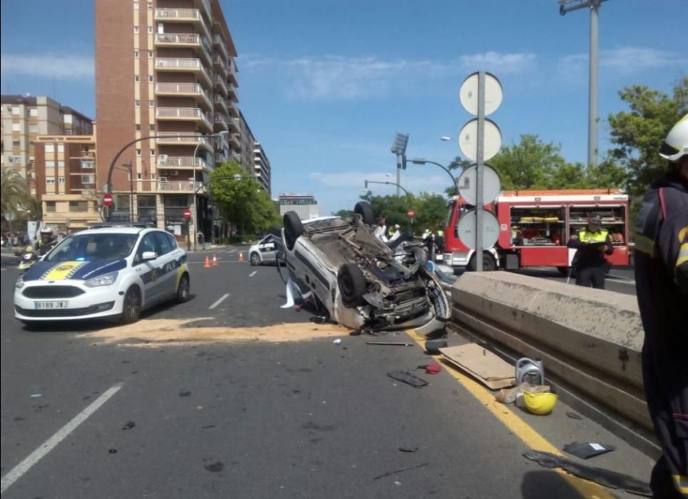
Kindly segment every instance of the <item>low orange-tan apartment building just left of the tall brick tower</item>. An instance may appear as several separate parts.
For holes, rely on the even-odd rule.
[[[93,135],[38,135],[35,154],[36,195],[43,223],[66,232],[101,220],[95,130]]]

